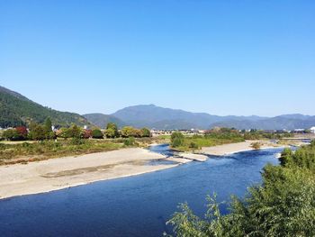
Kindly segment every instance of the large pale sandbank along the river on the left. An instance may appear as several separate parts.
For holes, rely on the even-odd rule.
[[[145,149],[130,148],[1,166],[0,198],[49,192],[178,165],[148,165],[149,160],[165,158]]]

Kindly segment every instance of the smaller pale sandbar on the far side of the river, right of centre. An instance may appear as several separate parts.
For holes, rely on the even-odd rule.
[[[206,155],[224,156],[241,151],[254,150],[251,144],[257,141],[244,141],[238,143],[224,144],[215,147],[202,147],[201,153]],[[261,149],[284,147],[271,143],[270,141],[258,141],[262,143]]]

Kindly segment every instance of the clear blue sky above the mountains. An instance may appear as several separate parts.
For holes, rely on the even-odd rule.
[[[2,0],[0,85],[79,114],[315,114],[315,1]]]

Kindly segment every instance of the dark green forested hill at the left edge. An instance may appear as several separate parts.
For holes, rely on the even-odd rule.
[[[27,97],[0,87],[0,127],[26,125],[31,122],[43,123],[49,117],[56,126],[89,124],[85,117],[68,112],[60,112],[39,105]]]

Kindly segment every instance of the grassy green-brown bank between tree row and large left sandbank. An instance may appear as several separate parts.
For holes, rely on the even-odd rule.
[[[119,150],[128,147],[147,147],[151,143],[161,143],[165,141],[166,139],[164,137],[100,140],[59,139],[58,141],[1,141],[0,165]]]

